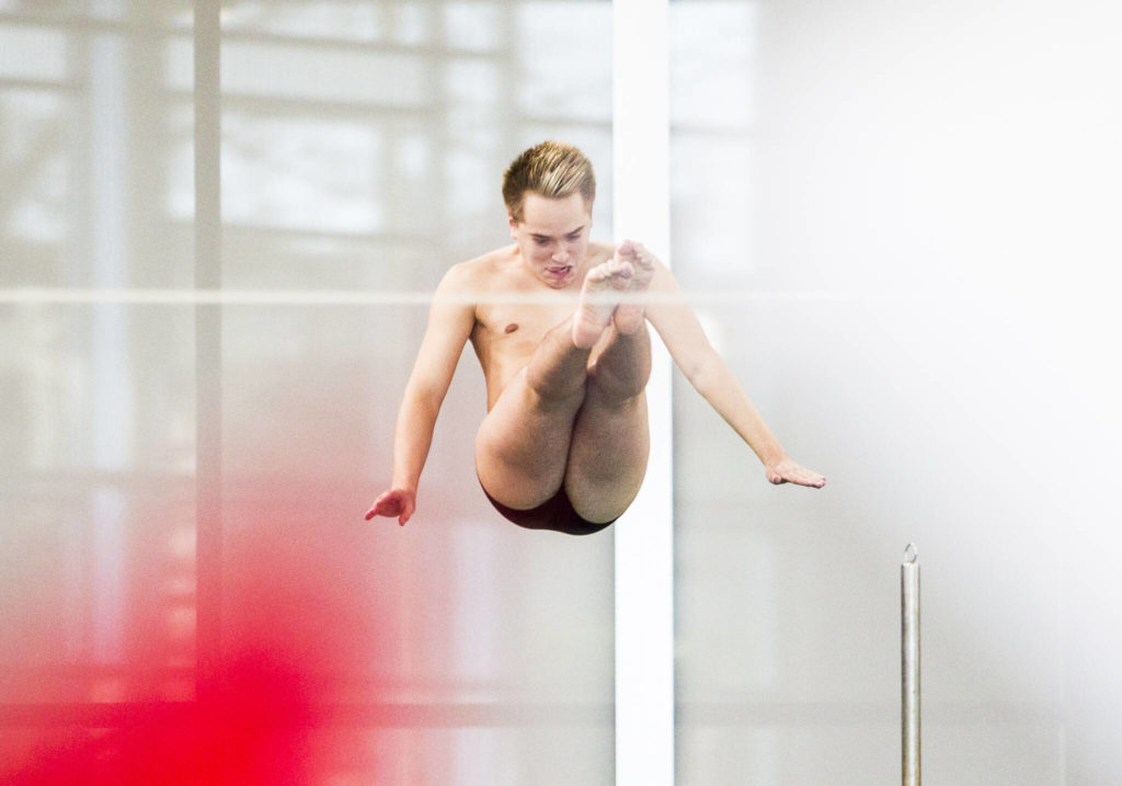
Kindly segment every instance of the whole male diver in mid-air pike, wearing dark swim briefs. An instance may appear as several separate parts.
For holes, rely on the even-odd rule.
[[[646,473],[649,322],[767,481],[826,484],[787,456],[665,265],[637,243],[590,240],[596,177],[579,149],[546,141],[525,150],[504,175],[503,198],[514,243],[440,282],[397,417],[392,485],[367,520],[413,515],[436,415],[470,340],[487,384],[475,451],[487,499],[532,529],[609,525]]]

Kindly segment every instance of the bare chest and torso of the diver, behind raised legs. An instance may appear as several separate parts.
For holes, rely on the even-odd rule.
[[[610,259],[613,253],[613,246],[589,244],[573,283],[560,290],[527,269],[516,245],[462,264],[467,286],[481,295],[475,305],[471,346],[487,382],[488,411],[530,362],[545,333],[572,316],[585,272]]]

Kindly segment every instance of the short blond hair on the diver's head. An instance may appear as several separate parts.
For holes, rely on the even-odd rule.
[[[522,207],[530,191],[549,199],[564,199],[579,193],[591,211],[596,199],[596,173],[592,162],[576,145],[543,141],[523,150],[503,175],[503,201],[515,221],[522,221]]]

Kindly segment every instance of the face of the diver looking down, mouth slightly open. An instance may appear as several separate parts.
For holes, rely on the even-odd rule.
[[[530,271],[546,286],[563,290],[580,281],[588,255],[592,214],[580,194],[550,199],[527,192],[522,221],[511,219],[511,237]]]

